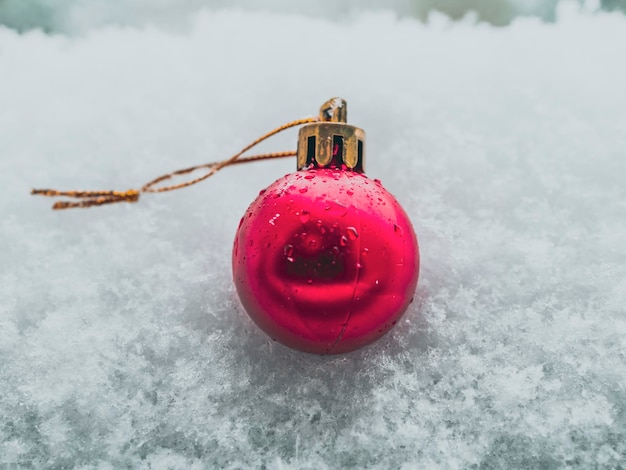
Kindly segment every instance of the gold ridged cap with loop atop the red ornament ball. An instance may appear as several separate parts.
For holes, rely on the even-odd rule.
[[[320,108],[319,121],[308,124],[298,134],[298,170],[342,168],[363,173],[365,131],[347,124],[348,105],[331,98]]]

